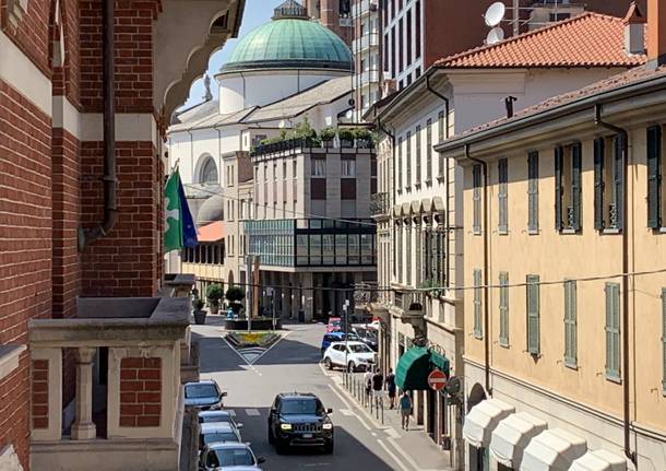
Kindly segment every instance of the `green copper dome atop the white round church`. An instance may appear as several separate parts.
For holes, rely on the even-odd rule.
[[[352,68],[352,52],[335,33],[309,20],[287,17],[274,19],[240,39],[221,72]]]

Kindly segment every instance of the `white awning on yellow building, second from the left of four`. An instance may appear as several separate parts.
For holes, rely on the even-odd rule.
[[[490,437],[490,452],[502,464],[518,469],[530,440],[548,428],[546,421],[518,412],[500,421]]]

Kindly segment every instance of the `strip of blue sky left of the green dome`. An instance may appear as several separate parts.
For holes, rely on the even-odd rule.
[[[246,0],[246,8],[242,14],[242,23],[240,23],[240,33],[238,34],[238,38],[227,40],[222,50],[215,52],[209,60],[207,74],[211,76],[211,91],[213,92],[213,96],[215,98],[217,98],[217,86],[215,86],[216,82],[213,75],[219,71],[222,64],[225,63],[229,58],[240,38],[255,27],[271,21],[271,16],[273,16],[273,9],[283,2],[284,0]],[[203,78],[201,78],[194,81],[192,84],[192,87],[190,89],[190,97],[186,102],[185,107],[189,108],[190,106],[201,103],[204,94],[205,89],[203,86]]]

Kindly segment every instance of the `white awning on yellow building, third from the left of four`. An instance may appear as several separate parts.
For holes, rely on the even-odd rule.
[[[563,471],[587,451],[586,441],[561,428],[544,431],[523,452],[521,471]]]

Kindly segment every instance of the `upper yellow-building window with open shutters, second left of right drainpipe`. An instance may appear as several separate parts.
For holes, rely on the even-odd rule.
[[[555,227],[576,232],[581,226],[581,144],[555,150]]]

